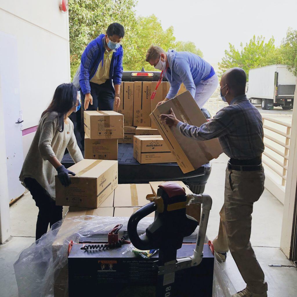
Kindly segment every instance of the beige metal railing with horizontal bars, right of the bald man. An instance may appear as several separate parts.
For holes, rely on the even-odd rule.
[[[268,157],[270,160],[272,160],[277,165],[281,166],[282,170],[279,170],[279,168],[277,168],[277,166],[275,166],[273,163],[271,164],[270,162],[267,162],[265,159],[262,159],[262,162],[266,166],[268,166],[272,171],[277,173],[277,175],[279,175],[282,178],[282,186],[285,186],[286,180],[287,180],[287,170],[288,170],[288,160],[289,160],[292,125],[289,123],[285,123],[285,122],[273,119],[273,118],[271,118],[269,116],[265,116],[265,115],[262,115],[262,120],[263,120],[263,128],[264,129],[268,129],[269,131],[274,132],[277,135],[281,135],[281,136],[285,137],[285,142],[283,142],[275,137],[272,137],[271,135],[268,135],[264,131],[264,138],[267,138],[267,139],[271,140],[272,143],[276,143],[277,145],[282,146],[284,148],[284,151],[281,151],[281,150],[277,149],[275,146],[268,144],[264,140],[265,147],[270,149],[271,151],[273,151],[275,154],[277,154],[277,156],[280,156],[280,158],[276,158],[276,157],[272,156],[266,150],[264,150],[263,155]],[[281,126],[285,126],[286,132],[280,131],[279,129],[275,129],[273,127],[266,125],[266,124],[268,124],[268,123],[266,123],[266,121],[269,121],[269,122],[272,122],[275,124],[279,124]],[[282,159],[282,161],[280,161],[279,159]]]

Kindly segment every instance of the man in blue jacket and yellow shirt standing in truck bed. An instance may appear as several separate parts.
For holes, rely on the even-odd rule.
[[[106,34],[91,41],[81,56],[80,94],[85,110],[113,110],[120,105],[124,27],[110,24]]]

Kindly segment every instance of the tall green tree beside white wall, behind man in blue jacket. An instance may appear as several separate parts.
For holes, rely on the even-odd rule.
[[[73,78],[81,54],[86,45],[99,34],[105,33],[107,27],[114,22],[125,27],[126,52],[133,51],[126,40],[134,38],[137,20],[135,17],[135,0],[69,0],[69,42],[70,69]]]

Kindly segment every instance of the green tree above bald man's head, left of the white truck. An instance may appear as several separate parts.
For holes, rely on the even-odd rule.
[[[274,38],[271,37],[265,42],[265,37],[255,35],[244,46],[241,42],[241,50],[237,50],[234,45],[229,43],[229,50],[225,50],[225,56],[219,63],[219,70],[223,73],[232,67],[240,67],[247,73],[249,69],[272,65],[282,64],[282,53],[274,45]]]

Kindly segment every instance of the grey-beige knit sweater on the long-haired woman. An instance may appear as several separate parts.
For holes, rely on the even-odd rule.
[[[68,125],[64,124],[64,131],[59,132],[56,116],[56,112],[50,112],[41,118],[20,173],[20,181],[24,187],[24,178],[35,178],[54,200],[57,171],[48,159],[56,156],[61,162],[66,148],[75,163],[83,159],[75,139],[72,121],[69,119]]]

